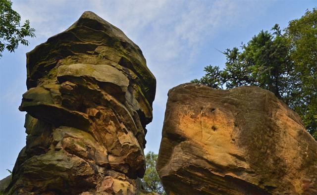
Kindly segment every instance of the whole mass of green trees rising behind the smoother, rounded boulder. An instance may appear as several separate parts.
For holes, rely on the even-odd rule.
[[[261,31],[241,49],[226,49],[225,67],[206,66],[205,76],[191,82],[215,89],[253,85],[284,100],[302,118],[317,140],[317,9],[289,22],[282,34],[278,24]]]

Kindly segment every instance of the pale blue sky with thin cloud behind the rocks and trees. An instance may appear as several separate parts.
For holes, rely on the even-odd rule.
[[[277,23],[285,28],[316,0],[13,0],[36,38],[0,59],[0,179],[12,170],[25,146],[25,113],[18,110],[26,92],[25,53],[64,31],[90,10],[120,28],[143,51],[157,78],[154,119],[147,126],[145,152],[159,151],[167,92],[204,75],[204,66],[223,67],[219,50],[247,43]]]

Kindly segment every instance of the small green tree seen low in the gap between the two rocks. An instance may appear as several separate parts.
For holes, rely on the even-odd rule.
[[[159,179],[159,174],[156,170],[156,164],[158,160],[158,154],[153,151],[149,151],[145,155],[147,170],[145,171],[142,179],[143,187],[148,192],[155,192],[161,195],[165,195],[165,191]]]

